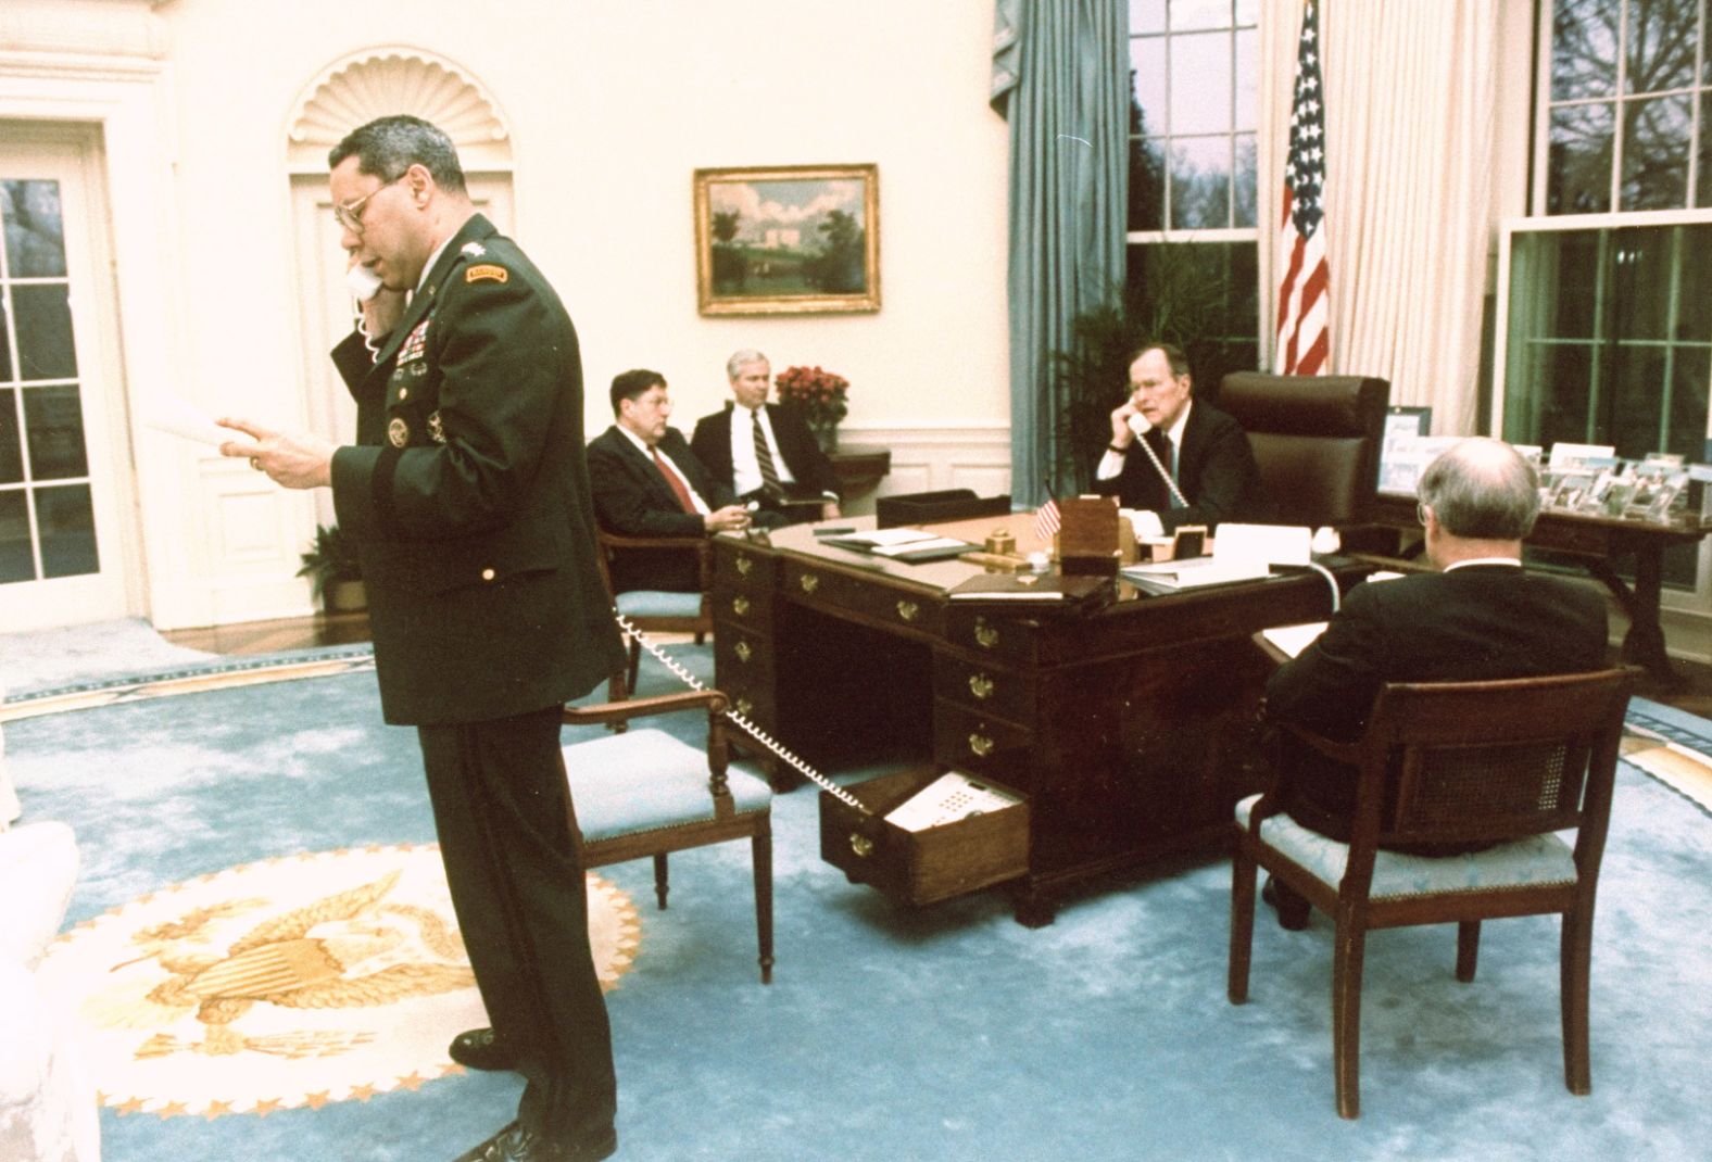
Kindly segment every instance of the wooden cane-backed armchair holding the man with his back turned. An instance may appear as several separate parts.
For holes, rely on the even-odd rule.
[[[1359,768],[1349,844],[1282,815],[1272,792],[1236,806],[1231,1003],[1248,999],[1258,864],[1335,924],[1332,1068],[1340,1116],[1359,1114],[1366,934],[1407,924],[1455,922],[1457,979],[1469,982],[1483,919],[1560,912],[1565,1083],[1572,1094],[1590,1092],[1594,893],[1632,678],[1609,669],[1387,685],[1359,741],[1339,744],[1296,731],[1322,755]],[[1556,835],[1565,830],[1575,832],[1573,847]],[[1493,845],[1457,856],[1382,851],[1421,844]]]

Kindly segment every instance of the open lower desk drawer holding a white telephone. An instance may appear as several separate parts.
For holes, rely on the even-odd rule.
[[[1029,869],[1029,801],[986,815],[909,832],[885,815],[943,774],[916,767],[854,784],[847,791],[873,815],[820,792],[820,857],[854,883],[904,904],[933,904],[976,892]],[[983,779],[995,791],[1010,787]]]

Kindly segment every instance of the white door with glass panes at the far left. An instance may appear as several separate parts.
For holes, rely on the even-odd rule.
[[[118,618],[130,481],[96,147],[0,130],[0,631]]]

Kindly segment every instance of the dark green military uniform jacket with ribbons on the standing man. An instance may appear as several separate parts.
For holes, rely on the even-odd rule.
[[[378,361],[332,353],[356,447],[332,459],[358,537],[387,722],[483,722],[579,698],[623,661],[596,563],[582,363],[558,294],[476,214]]]

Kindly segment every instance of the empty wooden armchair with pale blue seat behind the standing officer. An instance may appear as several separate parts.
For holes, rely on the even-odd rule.
[[[666,909],[666,856],[688,847],[750,840],[755,863],[755,929],[760,979],[772,982],[772,789],[765,779],[728,770],[726,697],[717,690],[565,707],[568,726],[704,708],[707,748],[659,729],[625,731],[563,748],[572,833],[586,868],[654,857],[654,895]]]

